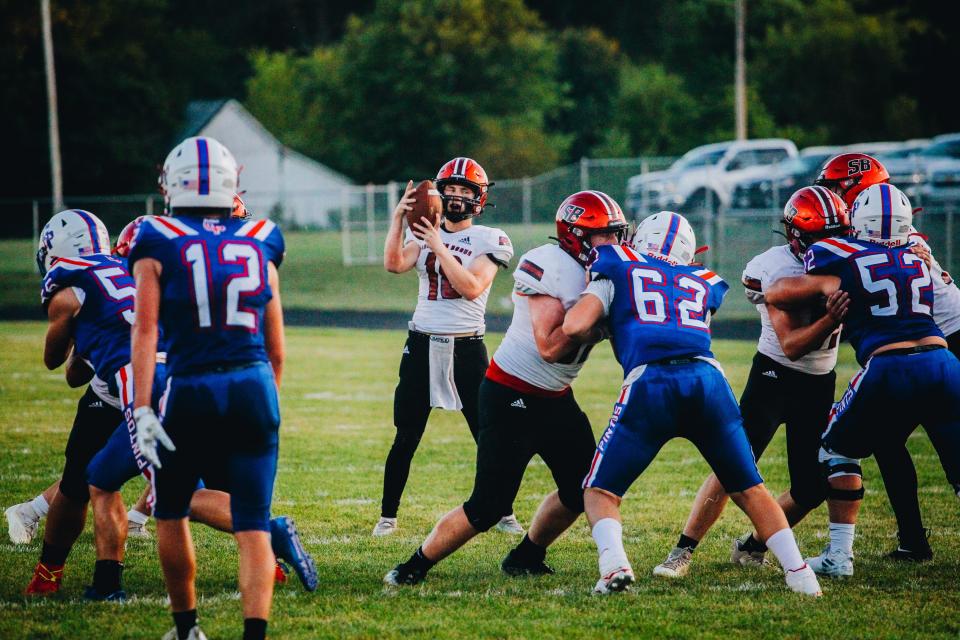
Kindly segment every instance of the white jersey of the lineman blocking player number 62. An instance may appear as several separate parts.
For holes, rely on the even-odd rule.
[[[580,373],[589,347],[581,347],[572,354],[568,364],[541,358],[527,298],[550,296],[558,299],[564,309],[570,309],[587,286],[586,270],[557,245],[545,244],[520,257],[513,279],[513,319],[493,360],[515,378],[548,391],[562,391]]]

